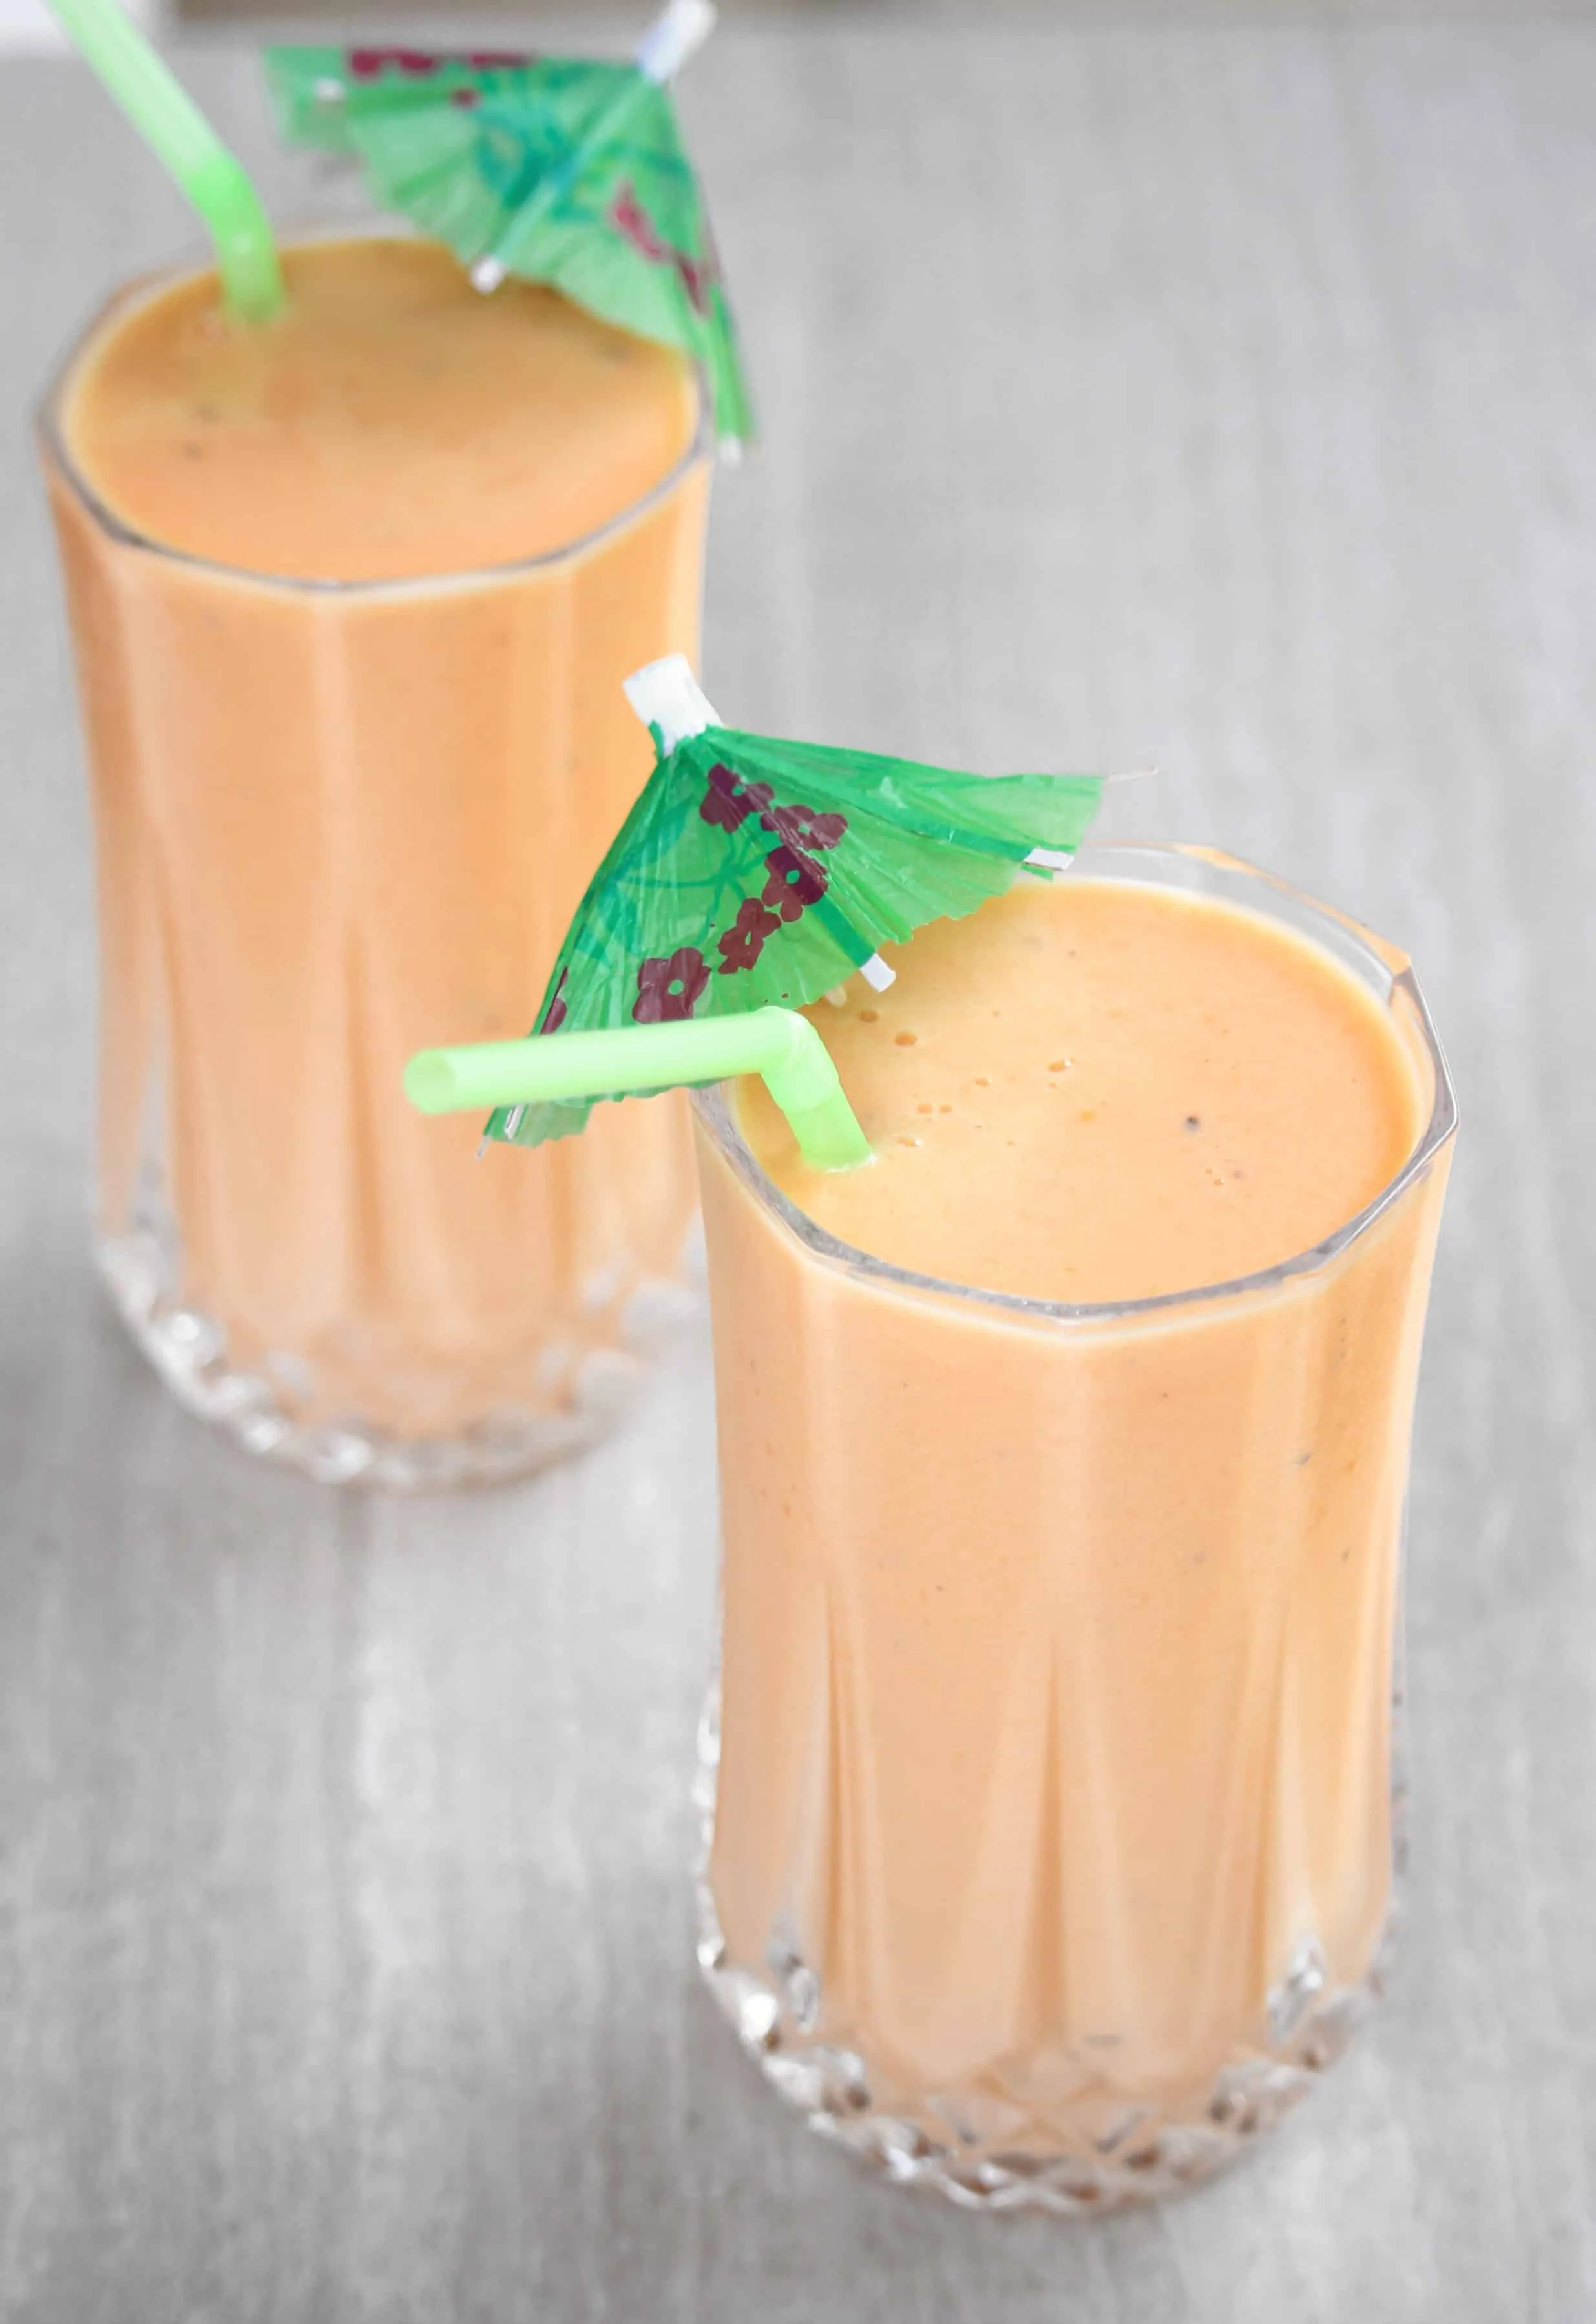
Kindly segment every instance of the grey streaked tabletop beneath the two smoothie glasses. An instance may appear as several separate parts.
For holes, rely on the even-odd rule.
[[[195,81],[283,202],[246,60]],[[767,451],[748,725],[1138,765],[1408,941],[1466,1111],[1378,2033],[1243,2173],[971,2222],[695,1987],[702,1334],[395,1506],[181,1418],[84,1260],[91,869],[23,414],[177,200],[0,70],[0,2312],[39,2324],[1596,2317],[1596,30],[734,26],[688,112]]]

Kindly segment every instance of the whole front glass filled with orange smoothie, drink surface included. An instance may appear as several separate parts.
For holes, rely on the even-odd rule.
[[[811,1011],[862,1171],[757,1083],[704,1109],[711,1980],[966,2201],[1213,2168],[1389,1915],[1450,1095],[1401,957],[1285,895],[1087,851],[925,930]]]

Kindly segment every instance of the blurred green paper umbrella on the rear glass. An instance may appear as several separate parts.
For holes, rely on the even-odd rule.
[[[548,284],[702,365],[716,428],[753,432],[709,214],[669,81],[709,0],[671,0],[637,58],[267,49],[281,130],[348,153],[386,209],[444,242],[481,290]]]

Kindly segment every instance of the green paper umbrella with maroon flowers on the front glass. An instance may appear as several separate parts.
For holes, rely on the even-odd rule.
[[[627,697],[657,762],[567,930],[539,1034],[801,1009],[855,969],[885,988],[883,944],[976,911],[1025,865],[1064,869],[1103,788],[741,734],[678,653]],[[506,1106],[488,1136],[539,1146],[590,1109]]]

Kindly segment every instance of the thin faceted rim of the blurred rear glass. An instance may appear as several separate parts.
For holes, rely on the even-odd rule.
[[[379,218],[379,221],[330,221],[323,225],[300,225],[281,237],[281,249],[295,249],[307,242],[425,242],[414,228],[402,221]],[[288,597],[323,597],[332,602],[351,600],[379,600],[379,597],[404,597],[407,593],[437,595],[448,588],[483,588],[497,581],[518,581],[541,572],[555,572],[565,565],[576,565],[581,558],[590,555],[616,532],[625,532],[627,525],[639,523],[650,509],[660,507],[669,495],[685,483],[685,479],[697,467],[713,467],[716,460],[716,416],[713,400],[709,393],[709,379],[699,363],[690,363],[692,388],[697,400],[697,416],[692,423],[692,437],[688,439],[681,456],[671,462],[657,483],[650,483],[646,493],[627,502],[613,516],[606,516],[602,525],[592,532],[578,535],[574,541],[560,541],[558,548],[539,548],[530,558],[509,558],[499,565],[467,565],[451,572],[425,572],[425,574],[395,574],[376,581],[325,581],[309,574],[267,574],[256,572],[249,565],[223,565],[218,558],[195,555],[190,548],[177,548],[172,541],[160,541],[149,532],[139,532],[121,518],[107,502],[95,493],[95,488],[84,476],[81,467],[72,458],[67,446],[65,428],[60,425],[63,404],[72,374],[77,372],[84,353],[93,339],[105,330],[114,314],[123,307],[135,307],[139,300],[156,297],[160,290],[170,290],[195,274],[214,274],[214,260],[197,253],[186,260],[174,260],[172,265],[156,267],[146,274],[135,274],[118,284],[88,316],[88,321],[72,337],[65,356],[56,363],[44,393],[35,402],[33,421],[44,449],[46,460],[58,469],[63,483],[72,490],[79,507],[93,518],[98,530],[116,541],[121,548],[135,548],[142,555],[160,558],[165,565],[177,565],[179,569],[207,574],[211,581],[228,581],[237,588],[272,590]],[[602,321],[602,316],[599,316]],[[620,328],[620,325],[611,325]],[[632,332],[637,337],[637,332]]]

